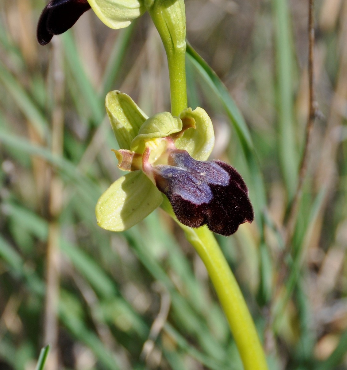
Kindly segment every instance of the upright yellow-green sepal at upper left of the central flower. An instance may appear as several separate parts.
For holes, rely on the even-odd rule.
[[[147,115],[129,95],[118,90],[106,95],[105,106],[119,147],[129,150]]]

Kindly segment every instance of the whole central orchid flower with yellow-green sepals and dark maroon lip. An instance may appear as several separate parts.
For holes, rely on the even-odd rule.
[[[207,224],[222,235],[254,219],[248,189],[235,168],[206,161],[214,146],[210,117],[202,108],[187,108],[179,117],[161,112],[148,118],[120,91],[106,96],[119,149],[118,167],[130,171],[116,180],[96,205],[99,226],[123,231],[169,199],[181,223]]]

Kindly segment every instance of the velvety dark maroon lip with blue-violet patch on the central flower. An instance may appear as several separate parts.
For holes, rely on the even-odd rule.
[[[157,188],[169,199],[181,223],[207,225],[221,235],[254,220],[247,186],[237,170],[222,161],[197,161],[187,151],[170,154],[169,165],[152,167]]]

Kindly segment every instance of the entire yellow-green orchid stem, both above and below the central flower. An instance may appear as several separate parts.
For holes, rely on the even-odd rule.
[[[186,16],[184,0],[154,0],[148,9],[167,55],[170,76],[171,113],[187,108]],[[162,203],[176,221],[166,197]],[[266,370],[265,355],[241,290],[213,234],[206,226],[191,229],[178,223],[203,260],[234,335],[245,370]]]

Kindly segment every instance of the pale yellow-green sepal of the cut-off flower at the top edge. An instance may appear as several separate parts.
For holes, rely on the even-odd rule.
[[[143,0],[88,0],[88,3],[99,19],[114,29],[129,26],[146,11]]]

